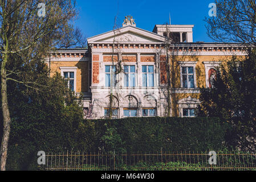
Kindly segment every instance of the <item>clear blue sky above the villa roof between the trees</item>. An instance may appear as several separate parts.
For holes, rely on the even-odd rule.
[[[90,38],[111,31],[115,16],[117,26],[121,27],[124,16],[132,15],[137,27],[153,31],[155,24],[169,23],[170,13],[171,24],[194,24],[194,42],[213,42],[206,35],[204,21],[212,2],[214,0],[77,0],[79,15],[75,25]]]

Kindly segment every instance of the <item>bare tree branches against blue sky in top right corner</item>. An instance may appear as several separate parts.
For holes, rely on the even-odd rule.
[[[207,17],[207,33],[217,42],[256,45],[256,1],[215,0],[217,17]]]

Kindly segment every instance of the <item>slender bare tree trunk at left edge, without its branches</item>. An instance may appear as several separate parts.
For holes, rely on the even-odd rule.
[[[3,54],[4,55],[4,54]],[[2,113],[3,113],[3,138],[1,143],[1,171],[6,169],[7,149],[10,136],[10,111],[7,101],[7,83],[6,83],[6,62],[7,55],[4,55],[4,59],[1,65],[1,100],[2,100]]]

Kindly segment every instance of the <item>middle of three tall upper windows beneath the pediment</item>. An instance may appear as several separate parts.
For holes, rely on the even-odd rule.
[[[124,65],[124,86],[135,87],[135,65]]]

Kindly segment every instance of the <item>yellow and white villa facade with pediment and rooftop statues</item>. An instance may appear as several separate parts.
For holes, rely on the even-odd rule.
[[[150,32],[126,18],[123,27],[88,38],[88,49],[52,52],[48,66],[51,75],[59,72],[71,90],[83,94],[83,107],[92,106],[94,119],[108,116],[111,93],[113,118],[165,117],[168,55],[170,113],[194,117],[199,88],[212,86],[222,60],[246,53],[241,44],[193,42],[193,27],[156,25]]]

